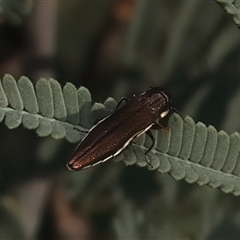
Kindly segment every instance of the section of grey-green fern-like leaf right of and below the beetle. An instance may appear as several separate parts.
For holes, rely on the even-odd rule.
[[[190,117],[184,120],[177,114],[171,116],[170,131],[154,131],[156,147],[144,159],[147,141],[134,144],[124,153],[127,165],[137,163],[149,170],[169,173],[176,180],[209,185],[225,193],[240,195],[240,134],[230,136],[217,132],[213,126],[195,124]],[[146,135],[144,137],[147,137]],[[136,162],[127,157],[134,152]]]

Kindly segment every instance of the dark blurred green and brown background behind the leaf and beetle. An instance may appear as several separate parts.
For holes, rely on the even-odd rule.
[[[168,89],[182,116],[240,130],[240,32],[215,1],[0,1],[0,74],[96,102]],[[0,125],[0,239],[240,239],[239,198]]]

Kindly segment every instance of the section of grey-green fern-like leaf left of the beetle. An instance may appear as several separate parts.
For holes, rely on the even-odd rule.
[[[115,104],[115,100],[109,101]],[[27,129],[36,129],[39,136],[66,137],[76,143],[83,134],[75,128],[86,132],[93,122],[92,111],[97,109],[106,112],[103,104],[94,105],[92,110],[90,92],[84,87],[77,90],[71,83],[62,89],[56,80],[42,78],[34,89],[27,77],[16,82],[9,74],[0,82],[0,121],[5,119],[10,129],[22,123]]]

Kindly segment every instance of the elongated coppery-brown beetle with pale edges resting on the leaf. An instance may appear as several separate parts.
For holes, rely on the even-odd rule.
[[[95,166],[120,154],[134,138],[147,132],[154,138],[150,128],[164,128],[157,121],[166,117],[171,107],[171,98],[163,88],[153,87],[133,95],[126,104],[94,125],[74,150],[67,164],[69,170],[77,171]]]

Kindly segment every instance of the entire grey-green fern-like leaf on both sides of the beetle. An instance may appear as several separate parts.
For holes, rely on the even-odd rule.
[[[17,82],[10,75],[0,81],[0,121],[12,129],[22,124],[36,129],[39,136],[69,142],[80,141],[93,123],[113,111],[113,98],[104,104],[92,104],[91,94],[85,87],[76,89],[67,83],[63,89],[54,79],[40,79],[35,90],[27,77]],[[195,123],[190,117],[182,119],[173,114],[168,122],[169,131],[152,130],[156,139],[147,154],[150,140],[142,135],[134,140],[115,161],[126,165],[147,166],[149,170],[169,173],[176,180],[209,185],[226,193],[240,195],[240,135],[230,136],[217,132],[213,126]]]

